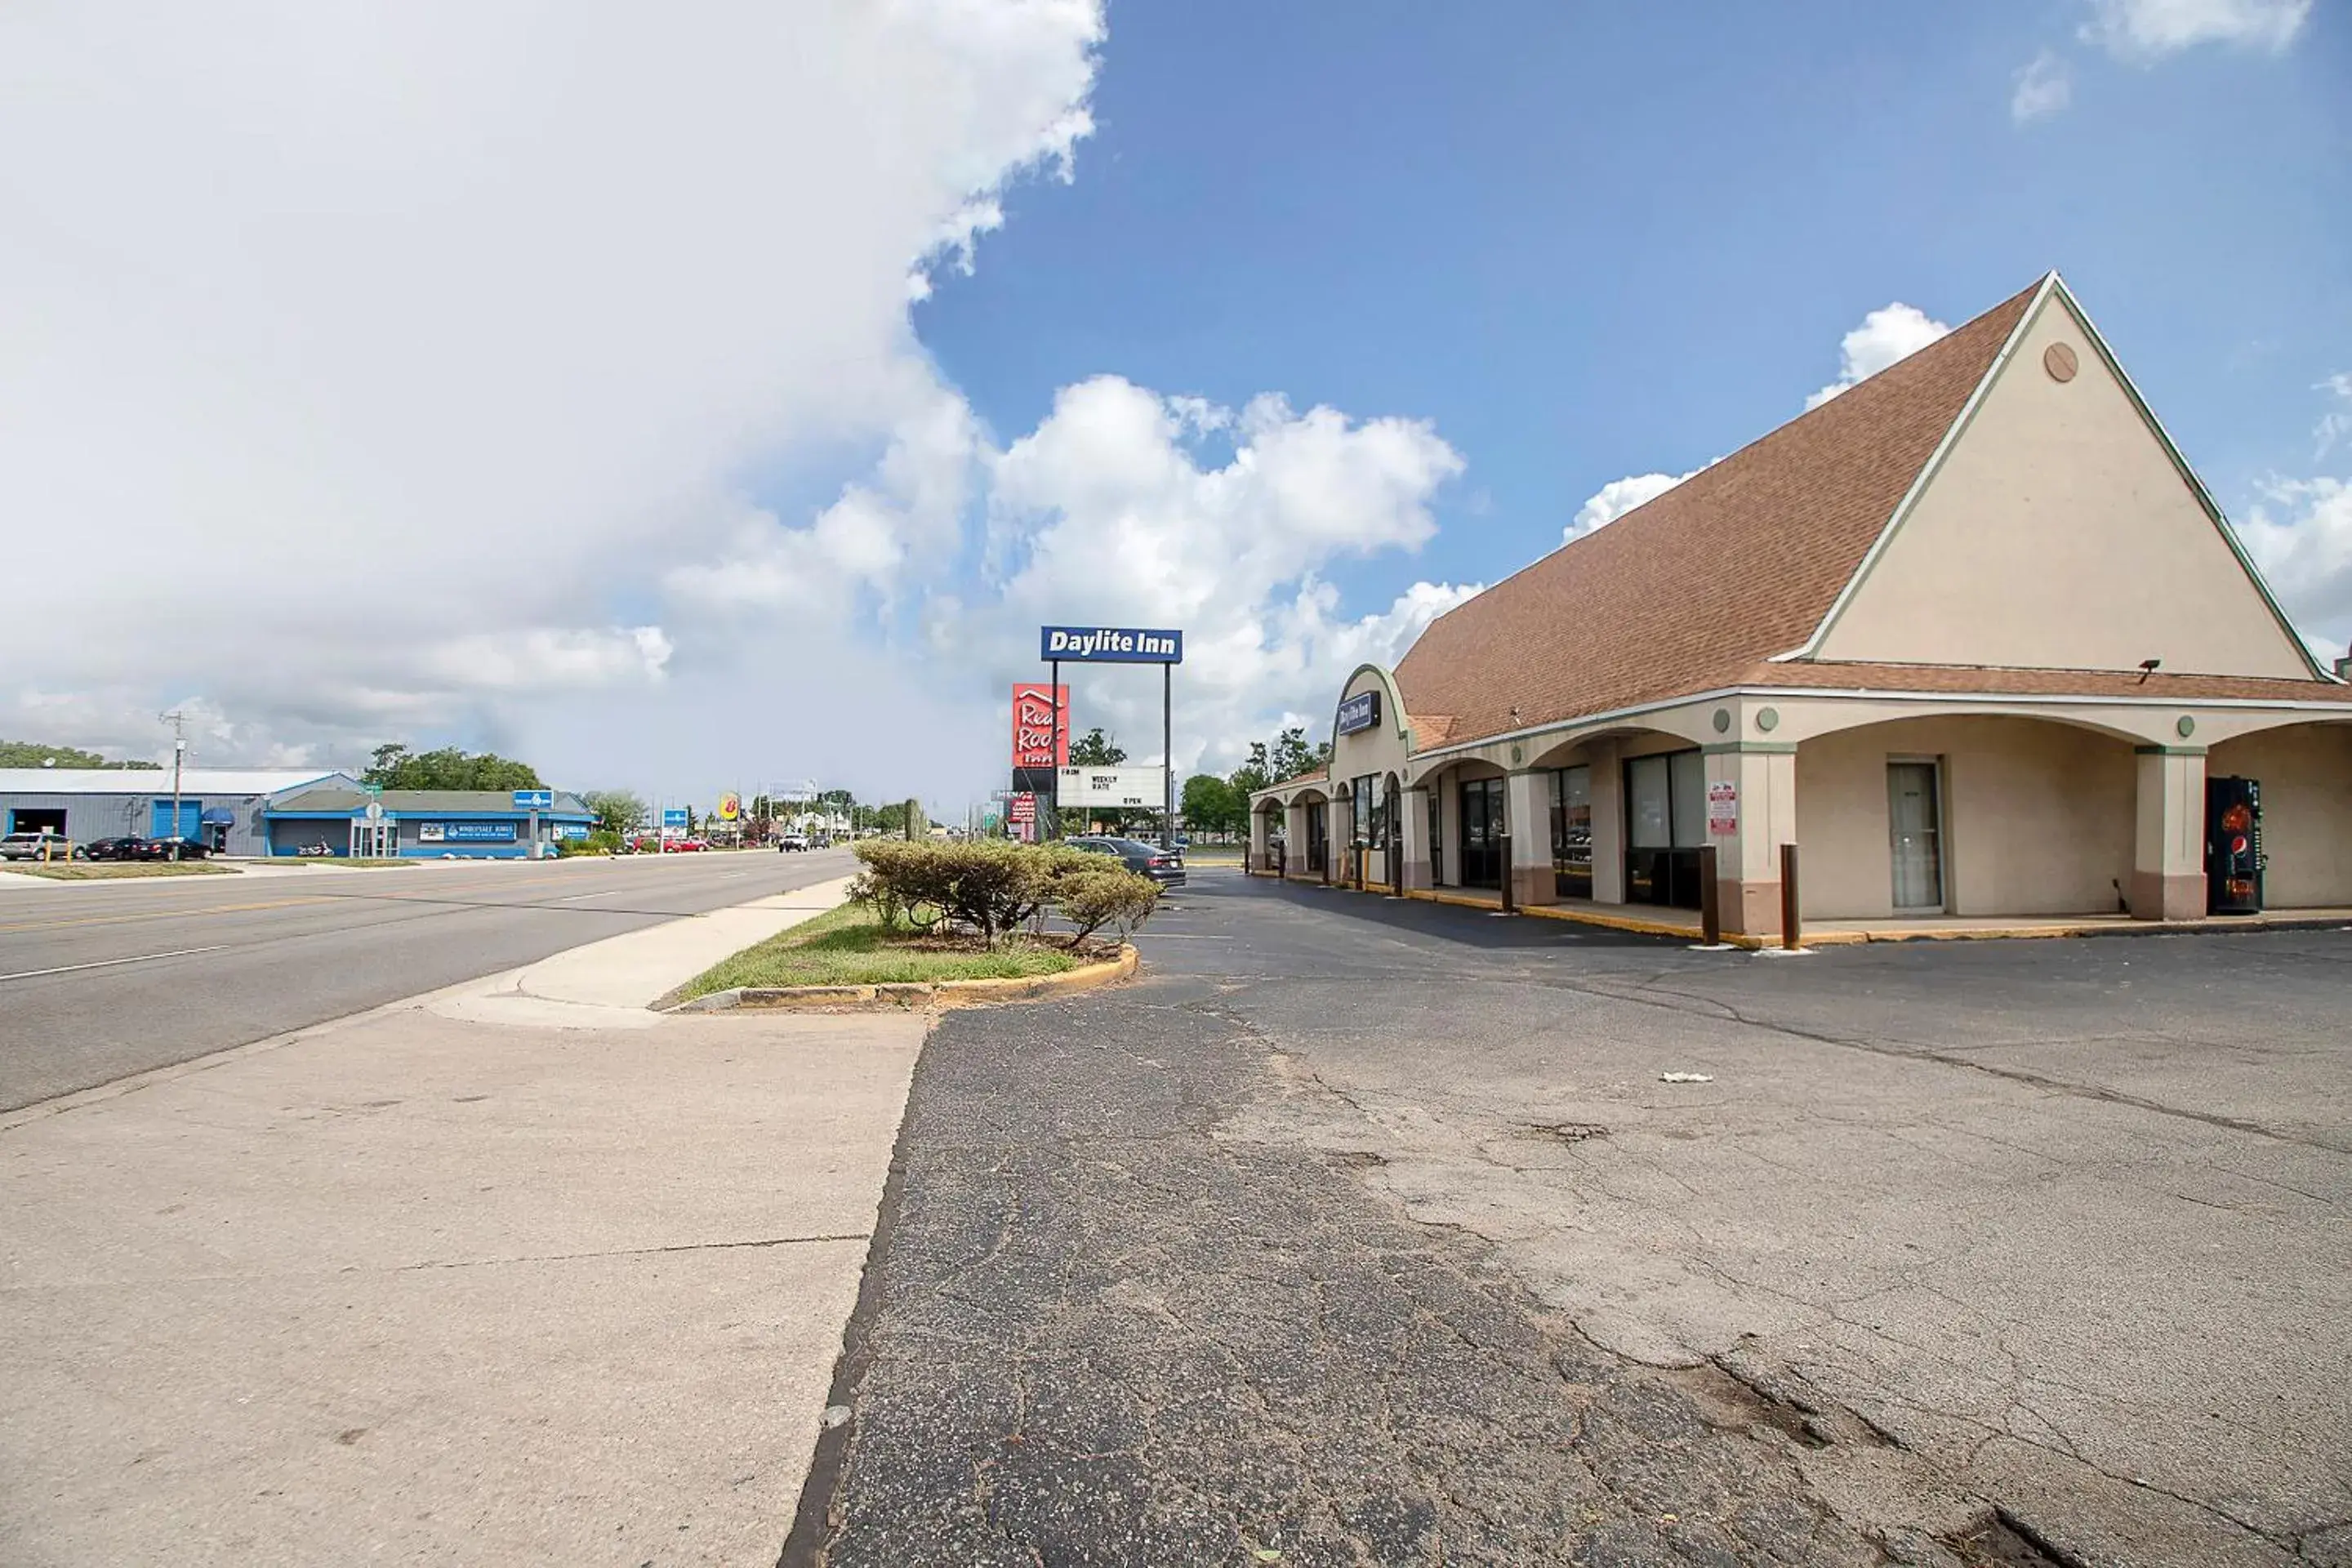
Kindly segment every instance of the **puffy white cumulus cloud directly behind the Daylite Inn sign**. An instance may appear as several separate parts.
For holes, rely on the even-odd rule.
[[[997,597],[957,607],[953,635],[1033,649],[1040,623],[1183,628],[1181,766],[1232,766],[1282,722],[1329,726],[1324,708],[1355,665],[1395,663],[1477,592],[1423,581],[1348,616],[1327,578],[1437,531],[1430,505],[1463,461],[1418,421],[1298,411],[1275,395],[1223,409],[1098,376],[1063,388],[988,468]],[[1037,675],[1023,654],[1000,679]],[[1138,759],[1160,752],[1152,672],[1065,677],[1082,726],[1112,729]]]

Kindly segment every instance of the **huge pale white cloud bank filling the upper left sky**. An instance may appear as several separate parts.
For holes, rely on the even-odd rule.
[[[0,7],[0,531],[64,567],[0,614],[0,733],[151,750],[198,693],[214,762],[355,755],[654,684],[708,731],[748,656],[710,602],[760,583],[694,567],[769,489],[896,442],[767,562],[828,616],[953,531],[908,277],[1070,174],[1103,38],[1098,0]],[[546,762],[644,766],[614,733]]]

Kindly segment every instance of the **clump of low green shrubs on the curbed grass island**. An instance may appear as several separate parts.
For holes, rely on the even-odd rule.
[[[969,931],[990,947],[1054,905],[1080,938],[1105,924],[1124,933],[1160,898],[1150,877],[1061,844],[868,839],[858,860],[866,870],[849,884],[849,898],[884,926]]]

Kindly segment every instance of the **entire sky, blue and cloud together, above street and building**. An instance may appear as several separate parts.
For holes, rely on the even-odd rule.
[[[0,736],[1223,769],[2051,266],[2352,637],[2345,7],[1705,9],[9,5]]]

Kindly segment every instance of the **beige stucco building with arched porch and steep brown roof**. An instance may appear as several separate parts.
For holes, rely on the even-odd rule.
[[[1712,849],[1771,933],[1797,844],[1804,919],[2201,919],[2211,778],[2260,811],[2230,898],[2258,851],[2270,910],[2352,905],[2352,689],[2056,273],[1456,607],[1334,731],[1254,865],[1696,907]]]

